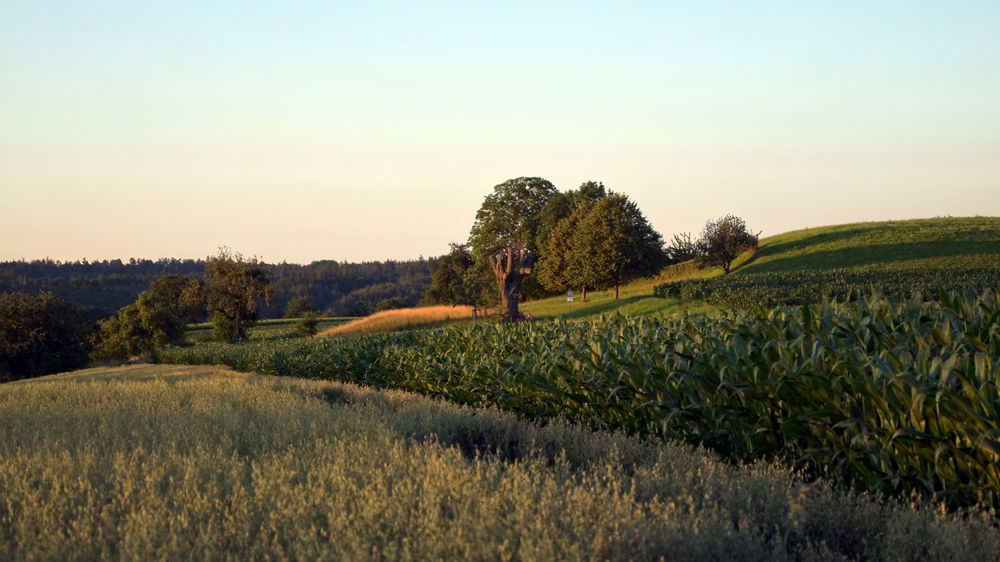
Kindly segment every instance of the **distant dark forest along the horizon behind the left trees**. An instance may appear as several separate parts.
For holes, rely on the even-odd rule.
[[[430,286],[435,259],[309,265],[265,264],[275,284],[271,306],[262,318],[279,318],[293,296],[306,296],[328,316],[363,316],[382,301],[400,299],[416,305]],[[202,277],[203,260],[53,260],[0,262],[0,293],[49,291],[78,307],[92,320],[106,318],[135,301],[157,277],[180,274]]]

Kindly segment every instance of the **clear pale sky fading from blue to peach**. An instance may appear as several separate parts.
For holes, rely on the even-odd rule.
[[[996,0],[0,0],[0,260],[429,257],[519,176],[668,241],[996,216],[998,29]]]

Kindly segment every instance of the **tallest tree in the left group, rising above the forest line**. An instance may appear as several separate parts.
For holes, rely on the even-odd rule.
[[[274,286],[257,258],[220,248],[205,260],[206,296],[219,340],[246,340],[257,322],[259,301],[269,302]]]

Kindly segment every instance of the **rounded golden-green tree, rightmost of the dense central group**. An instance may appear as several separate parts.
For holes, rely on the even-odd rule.
[[[615,300],[623,282],[653,275],[667,261],[663,238],[634,202],[617,193],[595,203],[580,220],[573,246],[570,267],[578,282],[613,286]]]

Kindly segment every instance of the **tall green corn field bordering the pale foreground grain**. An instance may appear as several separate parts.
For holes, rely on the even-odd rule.
[[[732,460],[781,459],[861,490],[992,508],[998,358],[992,290],[158,354],[680,439]]]

